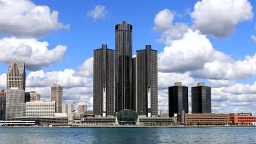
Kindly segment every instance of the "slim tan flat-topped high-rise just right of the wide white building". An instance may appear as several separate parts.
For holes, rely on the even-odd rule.
[[[51,101],[55,101],[55,112],[61,113],[62,106],[62,97],[63,97],[63,87],[60,85],[53,85],[51,87]]]

